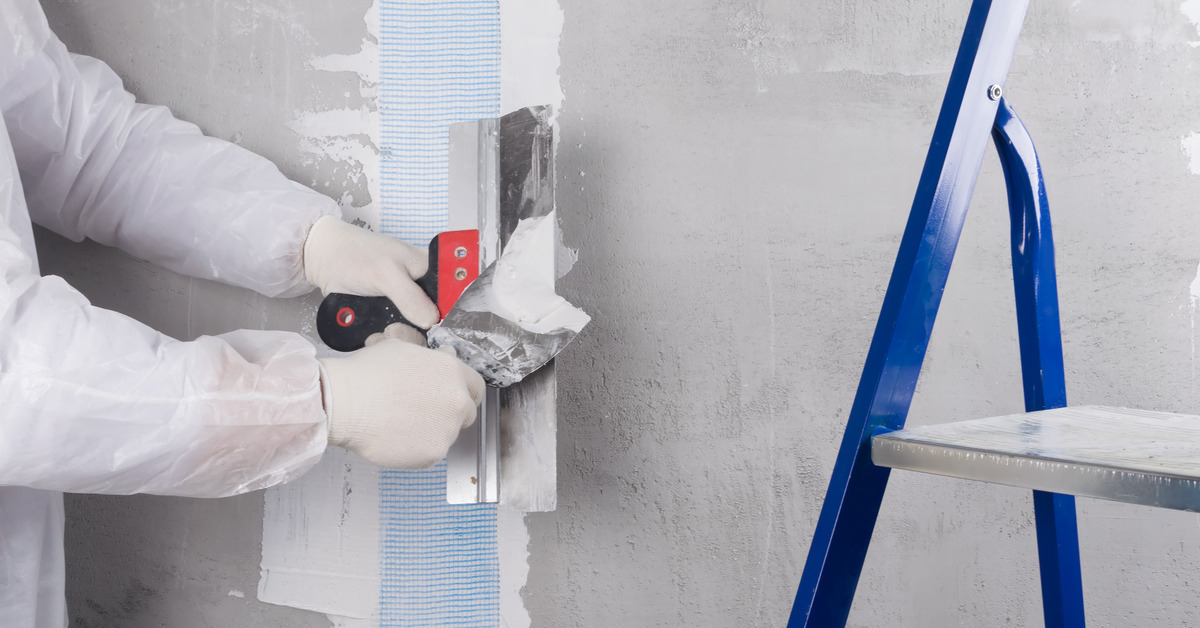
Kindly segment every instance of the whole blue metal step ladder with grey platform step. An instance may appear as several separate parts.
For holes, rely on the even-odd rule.
[[[1084,626],[1075,495],[1200,512],[1200,417],[1067,407],[1042,168],[1003,97],[1027,5],[972,2],[790,628],[845,626],[892,468],[1033,489],[1052,628]],[[1008,185],[1026,413],[906,430],[989,136]]]

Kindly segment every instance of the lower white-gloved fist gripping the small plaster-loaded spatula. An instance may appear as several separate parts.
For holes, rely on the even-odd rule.
[[[384,467],[437,463],[484,400],[484,378],[452,352],[391,337],[320,363],[329,443]]]

